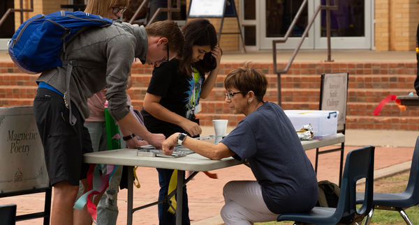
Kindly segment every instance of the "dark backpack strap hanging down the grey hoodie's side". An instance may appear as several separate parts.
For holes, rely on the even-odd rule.
[[[70,93],[70,80],[71,80],[71,72],[73,71],[73,67],[84,67],[84,68],[97,68],[101,66],[101,63],[93,62],[93,61],[63,61],[63,65],[67,64],[66,70],[66,92],[64,93],[64,103],[69,111],[69,122],[71,125],[75,125],[77,123],[77,118],[73,116],[71,113],[71,93]]]

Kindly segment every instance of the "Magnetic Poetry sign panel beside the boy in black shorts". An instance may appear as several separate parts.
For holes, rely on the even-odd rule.
[[[0,192],[50,187],[33,107],[0,107]]]

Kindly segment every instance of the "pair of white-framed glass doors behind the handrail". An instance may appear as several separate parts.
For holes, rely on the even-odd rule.
[[[303,0],[256,1],[258,13],[256,26],[258,49],[272,49],[272,40],[283,38],[300,9]],[[333,0],[330,0],[333,3]],[[374,47],[374,0],[337,0],[338,10],[331,10],[332,49],[372,49]],[[300,20],[291,31],[285,43],[277,44],[277,49],[295,49],[300,37],[314,15],[317,6],[325,0],[308,1]],[[301,49],[327,49],[326,12],[321,10],[314,20]]]

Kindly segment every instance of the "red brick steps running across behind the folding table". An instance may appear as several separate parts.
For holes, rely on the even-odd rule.
[[[230,121],[229,125],[234,126],[244,118],[243,115],[230,114],[228,105],[224,103],[223,79],[230,70],[240,65],[222,63],[215,88],[207,99],[201,100],[203,111],[198,114],[201,125],[212,125],[212,119],[226,118]],[[272,64],[255,65],[267,74],[265,100],[277,102],[277,75],[273,75]],[[133,88],[128,93],[137,109],[142,108],[152,70],[150,65],[133,65]],[[13,63],[1,62],[0,72],[0,107],[32,105],[38,75],[24,74]],[[416,107],[400,111],[394,102],[389,102],[379,116],[372,116],[378,102],[386,96],[406,95],[414,91],[416,63],[295,63],[288,74],[281,75],[282,107],[318,109],[322,72],[349,72],[348,128],[418,130],[419,110]]]

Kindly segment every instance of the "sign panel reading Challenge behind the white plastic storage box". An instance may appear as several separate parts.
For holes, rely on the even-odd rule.
[[[345,132],[348,72],[323,73],[320,84],[320,110],[337,110],[337,132]]]

